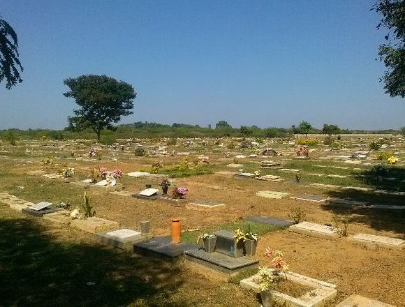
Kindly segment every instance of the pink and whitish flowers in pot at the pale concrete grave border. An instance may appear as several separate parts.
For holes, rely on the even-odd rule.
[[[265,257],[272,259],[272,267],[259,267],[258,277],[254,281],[258,283],[263,307],[272,307],[274,301],[272,286],[287,279],[288,265],[283,260],[283,253],[280,250],[273,251],[266,248]]]

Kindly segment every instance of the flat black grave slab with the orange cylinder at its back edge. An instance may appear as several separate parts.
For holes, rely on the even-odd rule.
[[[197,249],[196,244],[181,242],[172,244],[170,237],[156,237],[149,241],[135,243],[133,252],[142,255],[160,255],[175,258],[182,255],[186,250]]]

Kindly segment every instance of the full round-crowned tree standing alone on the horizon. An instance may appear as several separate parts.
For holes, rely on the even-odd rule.
[[[133,114],[136,93],[131,84],[117,81],[106,75],[82,75],[64,80],[70,91],[64,96],[75,99],[80,109],[73,110],[75,117],[68,117],[69,128],[91,128],[100,141],[103,129],[114,130],[121,116]]]

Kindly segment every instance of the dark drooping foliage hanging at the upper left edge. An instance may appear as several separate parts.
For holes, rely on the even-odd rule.
[[[0,82],[6,79],[6,89],[22,82],[20,71],[24,68],[19,57],[17,34],[0,16]]]

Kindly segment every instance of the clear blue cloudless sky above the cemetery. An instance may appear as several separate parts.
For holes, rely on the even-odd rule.
[[[64,128],[63,80],[87,74],[133,85],[121,123],[405,126],[404,99],[379,82],[373,3],[0,0],[24,66],[22,84],[0,84],[0,128]]]

